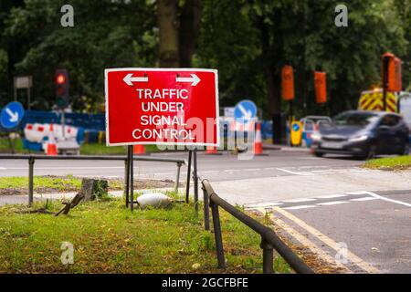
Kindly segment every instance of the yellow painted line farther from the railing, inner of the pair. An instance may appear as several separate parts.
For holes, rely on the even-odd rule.
[[[300,220],[293,214],[290,214],[289,212],[279,208],[279,207],[273,207],[273,211],[278,212],[279,214],[284,215],[285,217],[289,218],[291,221],[293,221],[295,224],[298,224],[301,228],[307,230],[311,235],[316,236],[318,239],[320,239],[324,244],[329,245],[332,249],[338,252],[337,248],[337,243],[333,241],[330,237],[327,235],[321,234],[320,231],[315,229],[309,224],[306,224],[304,221]],[[353,263],[356,266],[360,266],[365,272],[367,273],[381,273],[377,268],[374,266],[371,266],[367,262],[365,262],[361,257],[354,255],[352,252],[349,250],[347,251],[347,258],[350,260],[351,263]]]

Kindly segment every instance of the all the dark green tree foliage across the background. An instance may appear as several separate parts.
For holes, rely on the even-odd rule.
[[[184,1],[179,1],[179,6]],[[68,68],[76,110],[103,101],[104,68],[155,67],[158,28],[155,1],[73,0],[75,26],[60,26],[64,1],[5,1],[0,41],[0,102],[10,97],[12,76],[34,76],[34,105],[54,103],[56,68]],[[334,114],[356,108],[360,92],[381,83],[381,55],[404,60],[404,87],[411,89],[411,4],[408,0],[353,0],[348,27],[334,25],[329,0],[204,0],[194,67],[219,70],[220,105],[254,99],[265,117],[279,99],[279,72],[294,68],[294,111]],[[327,72],[330,102],[314,100],[313,70]],[[274,82],[270,85],[270,82]],[[4,86],[5,85],[5,86]],[[289,105],[282,103],[281,111]]]

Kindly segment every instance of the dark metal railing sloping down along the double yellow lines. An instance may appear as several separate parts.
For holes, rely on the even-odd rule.
[[[211,184],[207,180],[202,181],[204,192],[204,215],[205,215],[205,230],[210,229],[209,225],[209,207],[213,216],[214,235],[216,240],[216,257],[219,268],[226,268],[226,261],[223,248],[223,237],[221,234],[220,218],[218,213],[218,207],[223,208],[227,213],[236,217],[243,224],[248,225],[249,228],[254,230],[261,236],[261,249],[263,250],[263,273],[273,273],[273,250],[275,249],[284,260],[300,274],[313,274],[310,266],[304,263],[298,255],[296,255],[289,246],[279,238],[275,232],[269,227],[260,224],[255,219],[251,218],[247,214],[237,210],[235,206],[227,203],[220,198],[213,190]]]

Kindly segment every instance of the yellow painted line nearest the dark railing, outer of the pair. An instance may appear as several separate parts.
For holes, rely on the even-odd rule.
[[[266,214],[266,210],[263,208],[258,208],[258,212],[261,214]],[[305,247],[309,248],[311,252],[318,257],[320,257],[323,261],[331,264],[332,266],[338,266],[342,268],[346,273],[353,273],[351,269],[349,269],[347,266],[343,266],[341,263],[338,263],[335,258],[333,258],[331,255],[327,254],[324,252],[320,247],[315,245],[314,243],[311,242],[310,239],[305,237],[304,235],[301,235],[297,230],[292,228],[289,224],[286,224],[284,221],[281,219],[275,217],[273,214],[269,214],[269,219],[276,225],[279,226],[279,228],[285,230],[289,235],[294,237],[298,242],[300,242],[301,245],[304,245]]]

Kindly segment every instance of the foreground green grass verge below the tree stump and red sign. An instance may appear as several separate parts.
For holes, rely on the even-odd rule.
[[[43,206],[37,203],[35,207]],[[48,204],[57,211],[60,203]],[[69,215],[0,208],[0,273],[218,273],[214,237],[192,204],[131,213],[121,200],[80,203]],[[221,212],[227,273],[261,272],[259,236]],[[62,265],[63,242],[74,263]],[[280,264],[279,264],[280,263]],[[281,259],[277,270],[289,272]]]

